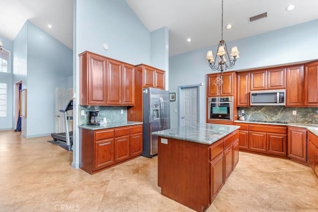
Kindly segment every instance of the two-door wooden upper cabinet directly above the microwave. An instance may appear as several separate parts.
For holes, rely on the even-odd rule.
[[[250,72],[250,90],[286,88],[286,69],[270,69]]]

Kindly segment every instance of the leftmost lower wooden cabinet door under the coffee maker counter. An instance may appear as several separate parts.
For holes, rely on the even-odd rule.
[[[95,169],[113,164],[114,159],[114,139],[95,142]]]

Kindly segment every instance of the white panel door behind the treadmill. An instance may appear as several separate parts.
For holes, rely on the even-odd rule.
[[[64,113],[60,112],[65,109],[67,103],[72,99],[73,89],[56,88],[55,89],[55,133],[65,133]],[[73,110],[68,111],[73,116]],[[68,121],[69,131],[73,131],[73,120]]]

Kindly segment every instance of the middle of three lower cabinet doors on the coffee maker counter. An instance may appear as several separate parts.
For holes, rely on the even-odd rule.
[[[129,136],[115,138],[115,161],[125,160],[130,157]]]

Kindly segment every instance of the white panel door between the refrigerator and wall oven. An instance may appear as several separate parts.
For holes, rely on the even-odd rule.
[[[198,123],[198,87],[181,89],[181,125],[189,126]]]

